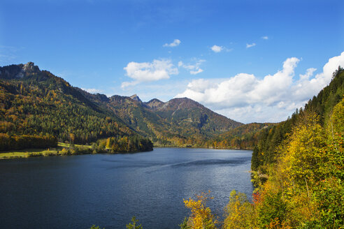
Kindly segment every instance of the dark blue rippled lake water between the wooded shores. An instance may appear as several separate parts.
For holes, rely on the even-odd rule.
[[[182,199],[212,191],[215,214],[232,189],[252,193],[250,151],[156,148],[0,161],[0,228],[179,228]],[[215,210],[217,209],[217,210]]]

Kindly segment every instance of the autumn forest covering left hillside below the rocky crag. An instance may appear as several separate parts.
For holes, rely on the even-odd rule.
[[[0,79],[0,133],[54,135],[59,142],[89,143],[134,135],[113,114],[97,108],[68,82],[47,71]]]

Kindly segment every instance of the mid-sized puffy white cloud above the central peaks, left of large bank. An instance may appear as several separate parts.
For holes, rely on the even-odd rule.
[[[134,81],[123,82],[122,88],[134,86],[140,82],[169,79],[170,75],[178,74],[178,68],[175,68],[169,59],[155,59],[152,62],[142,63],[130,62],[124,70]]]

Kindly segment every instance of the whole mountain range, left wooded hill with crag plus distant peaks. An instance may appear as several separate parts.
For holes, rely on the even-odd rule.
[[[34,63],[0,68],[0,133],[51,134],[80,143],[114,135],[141,135],[155,145],[203,146],[240,122],[189,98],[143,102],[133,96],[90,94]]]

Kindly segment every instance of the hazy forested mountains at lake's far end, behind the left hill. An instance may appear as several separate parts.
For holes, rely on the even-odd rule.
[[[142,102],[138,96],[111,96],[89,94],[90,101],[117,117],[157,146],[213,147],[208,140],[241,126],[189,98],[173,98],[166,103],[157,98]]]

